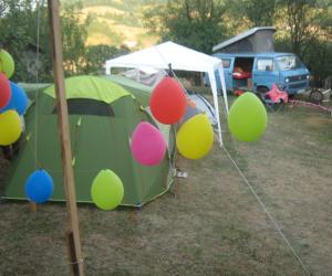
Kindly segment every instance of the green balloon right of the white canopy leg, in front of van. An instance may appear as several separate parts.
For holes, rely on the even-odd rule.
[[[240,141],[258,140],[264,134],[267,123],[267,109],[261,100],[250,92],[238,97],[228,114],[230,132]]]

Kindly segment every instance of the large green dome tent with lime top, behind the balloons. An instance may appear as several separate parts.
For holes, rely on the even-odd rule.
[[[138,102],[149,94],[124,87],[111,79],[75,76],[65,79],[73,169],[79,202],[92,202],[90,189],[102,169],[113,170],[124,183],[123,205],[141,206],[166,192],[174,179],[175,130],[158,125]],[[63,173],[58,134],[54,86],[35,93],[25,115],[25,132],[18,157],[11,162],[4,198],[25,199],[24,182],[37,169],[54,180],[51,200],[63,201]],[[144,167],[131,153],[131,135],[138,123],[158,127],[168,151],[158,166]]]

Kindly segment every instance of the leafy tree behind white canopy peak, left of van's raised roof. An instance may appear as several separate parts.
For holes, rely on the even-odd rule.
[[[163,41],[172,40],[205,53],[222,38],[224,2],[217,0],[169,0],[144,13],[145,25],[160,35]]]

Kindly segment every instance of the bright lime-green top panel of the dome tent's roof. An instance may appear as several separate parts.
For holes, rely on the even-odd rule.
[[[48,87],[44,93],[55,98],[54,85]],[[96,76],[68,78],[65,81],[65,94],[66,98],[92,98],[106,104],[111,104],[123,96],[132,95],[122,86]]]

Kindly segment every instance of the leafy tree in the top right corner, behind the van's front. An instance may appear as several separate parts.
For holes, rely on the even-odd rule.
[[[280,0],[278,26],[283,43],[276,47],[298,54],[321,86],[332,74],[332,2],[322,0]],[[280,38],[279,38],[280,39]]]

